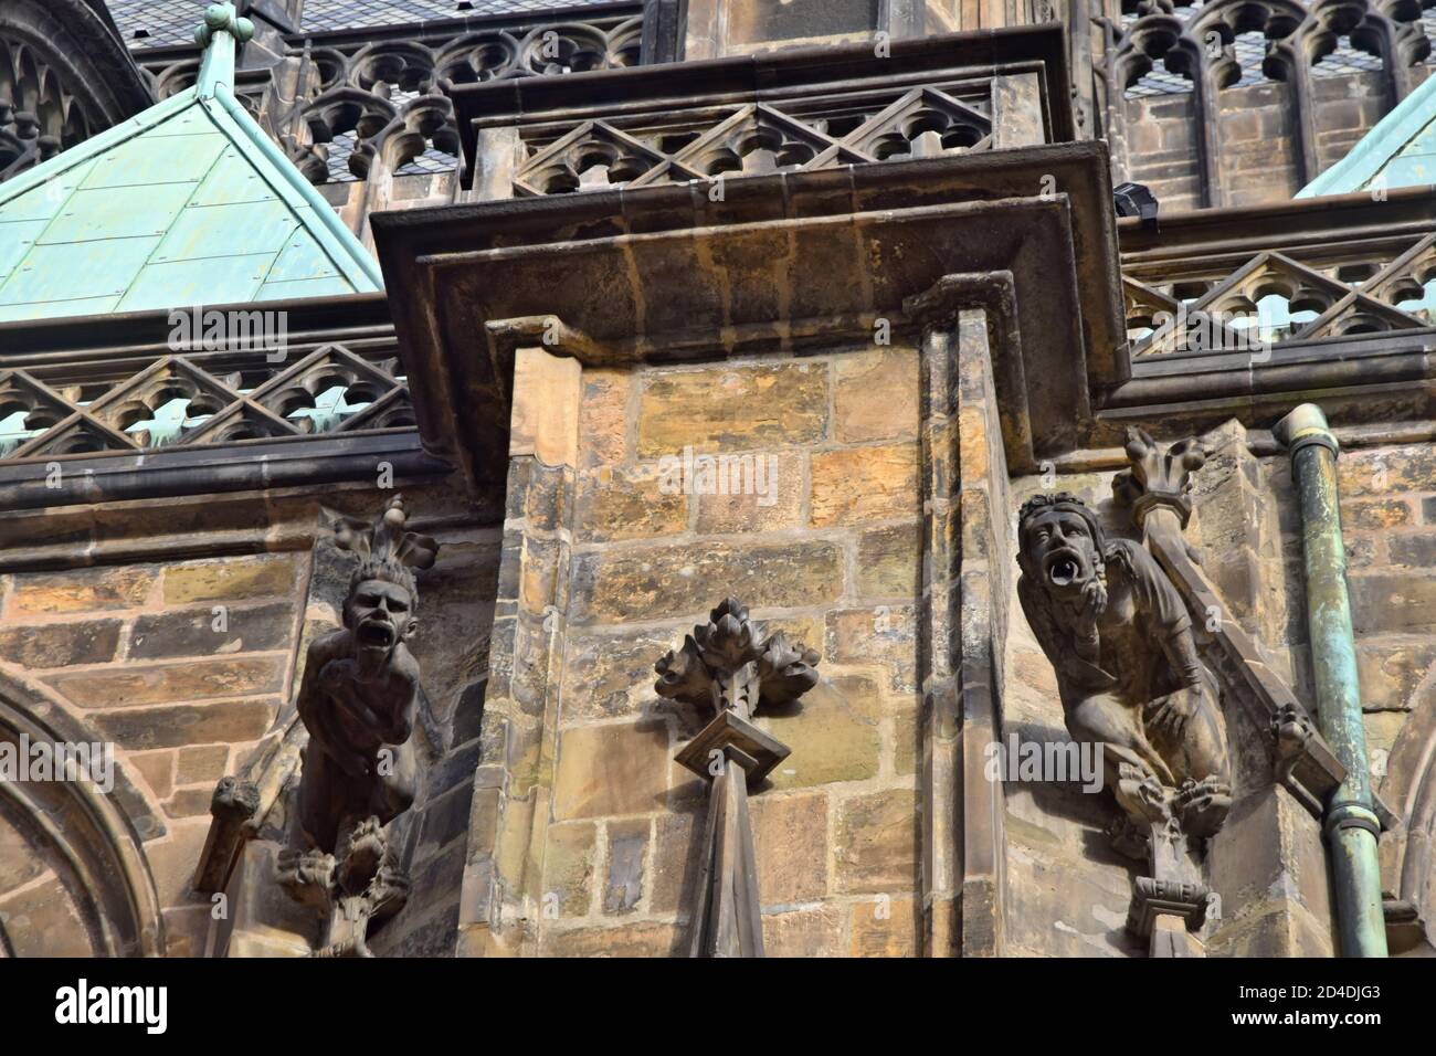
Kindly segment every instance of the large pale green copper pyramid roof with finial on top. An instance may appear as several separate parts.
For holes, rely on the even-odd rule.
[[[200,79],[0,184],[0,322],[382,289],[378,263],[231,91],[231,4]]]

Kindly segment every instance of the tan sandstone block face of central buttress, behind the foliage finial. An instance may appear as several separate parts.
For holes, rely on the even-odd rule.
[[[768,953],[916,953],[918,391],[912,348],[584,372],[541,953],[686,948],[705,717],[652,668],[727,593],[823,652],[760,723],[793,747],[752,799]],[[685,448],[777,474],[669,494]]]

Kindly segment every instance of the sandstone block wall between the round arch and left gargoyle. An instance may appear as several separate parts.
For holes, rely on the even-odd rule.
[[[146,853],[172,953],[202,953],[208,905],[187,892],[210,796],[289,693],[303,573],[299,555],[248,555],[6,576],[0,654],[116,746],[162,819]]]

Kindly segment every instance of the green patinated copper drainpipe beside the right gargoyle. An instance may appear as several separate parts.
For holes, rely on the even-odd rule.
[[[1307,570],[1307,626],[1317,687],[1317,726],[1346,767],[1346,780],[1327,802],[1325,832],[1337,897],[1343,957],[1386,957],[1381,876],[1376,842],[1381,823],[1371,799],[1357,681],[1351,599],[1347,595],[1337,438],[1315,404],[1302,404],[1274,430],[1291,451],[1301,500]]]

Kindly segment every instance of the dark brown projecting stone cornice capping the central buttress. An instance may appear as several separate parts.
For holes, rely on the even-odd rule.
[[[916,328],[905,300],[945,276],[1010,272],[1022,346],[997,355],[1020,355],[1025,381],[1001,395],[1031,422],[1031,447],[1008,451],[1015,468],[1070,450],[1088,392],[1117,369],[1100,144],[731,180],[721,203],[702,185],[666,185],[389,213],[373,226],[421,432],[475,481],[501,480],[507,451],[505,358],[472,342],[498,320],[553,316],[605,362],[719,361],[866,343],[879,318]],[[705,276],[705,260],[724,260],[721,274]],[[873,272],[873,260],[903,263]]]

